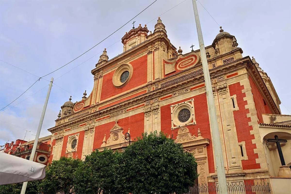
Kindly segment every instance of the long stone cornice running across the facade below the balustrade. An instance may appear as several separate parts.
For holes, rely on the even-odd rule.
[[[221,65],[221,66],[219,66],[217,68],[211,69],[210,70],[210,77],[212,79],[214,79],[214,78],[216,78],[218,76],[225,75],[225,74],[228,74],[230,72],[234,72],[234,71],[237,71],[239,69],[245,68],[246,67],[245,61],[248,60],[248,58],[249,57],[244,57],[244,58],[235,60],[235,61],[233,61],[231,63],[225,64],[225,65]],[[187,74],[186,72],[189,72],[188,74],[190,74],[191,72],[194,72],[193,70],[197,71],[197,70],[201,69],[200,67],[202,68],[202,64],[201,63],[196,65],[196,66],[194,66],[194,67],[192,67],[192,68],[190,68],[190,69],[188,69],[188,70],[179,72],[177,74],[174,74],[174,75],[168,76],[168,77],[166,77],[166,78],[164,78],[162,80],[159,80],[159,82],[160,83],[165,83],[165,82],[173,80],[175,78],[183,77],[183,76],[185,76]],[[175,83],[172,83],[172,84],[169,84],[167,86],[158,88],[156,90],[152,90],[152,91],[147,92],[147,93],[145,93],[143,95],[139,95],[137,97],[129,99],[129,100],[125,101],[125,102],[121,102],[119,104],[110,106],[108,108],[104,108],[104,109],[102,109],[100,111],[95,111],[95,112],[92,111],[91,114],[85,115],[84,117],[78,118],[76,120],[72,120],[70,122],[66,122],[64,124],[57,125],[55,127],[52,127],[50,129],[48,129],[48,131],[51,131],[52,133],[54,133],[54,132],[56,132],[56,131],[58,131],[60,129],[67,129],[67,128],[70,128],[70,127],[74,126],[77,123],[88,122],[89,120],[92,120],[92,119],[95,120],[96,118],[101,118],[101,117],[104,117],[106,115],[110,115],[111,113],[119,111],[121,109],[127,109],[129,107],[134,106],[134,105],[145,103],[148,100],[159,98],[159,97],[162,97],[162,96],[167,95],[167,94],[172,94],[173,92],[176,92],[178,90],[181,90],[181,89],[184,89],[184,88],[187,88],[187,87],[190,87],[190,86],[194,86],[196,84],[203,83],[203,82],[204,82],[203,72],[200,72],[198,74],[195,74],[195,76],[189,76],[189,77],[187,77],[185,79],[180,79],[179,81],[177,81]],[[148,85],[144,86],[143,88],[138,88],[136,90],[139,90],[139,91],[146,90],[147,87],[151,86],[152,84],[153,83],[149,83]],[[102,106],[104,106],[104,105],[102,104]],[[92,106],[91,109],[95,109],[96,110],[97,107],[100,107],[100,104]],[[86,109],[84,111],[88,111],[88,109]],[[78,115],[82,114],[84,111],[80,111],[77,114]]]

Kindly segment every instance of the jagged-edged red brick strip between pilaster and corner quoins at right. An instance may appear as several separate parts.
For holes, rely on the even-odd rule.
[[[237,140],[238,142],[245,141],[246,143],[248,160],[242,160],[242,168],[243,170],[258,169],[260,168],[260,164],[257,164],[255,161],[255,159],[258,158],[258,154],[254,153],[254,149],[257,147],[252,143],[252,139],[255,139],[255,136],[250,133],[250,131],[253,130],[253,127],[249,126],[251,118],[246,115],[249,113],[249,109],[245,108],[245,105],[247,105],[247,101],[244,101],[246,94],[242,93],[244,86],[241,86],[240,83],[234,83],[229,85],[228,88],[230,96],[236,95],[237,105],[239,107],[239,110],[233,111],[237,131]]]

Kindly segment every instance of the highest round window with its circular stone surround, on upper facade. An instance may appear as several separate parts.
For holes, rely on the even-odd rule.
[[[132,66],[130,64],[123,64],[117,68],[112,77],[113,85],[116,88],[125,86],[132,76]]]

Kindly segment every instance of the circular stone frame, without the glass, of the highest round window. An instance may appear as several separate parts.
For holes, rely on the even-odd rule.
[[[120,76],[123,74],[123,72],[128,71],[129,72],[129,76],[127,78],[127,80],[125,82],[121,82],[120,81]],[[114,72],[113,77],[112,77],[112,83],[113,86],[115,88],[122,88],[123,86],[125,86],[129,80],[132,77],[132,73],[133,73],[133,68],[132,65],[130,65],[129,63],[125,63],[123,65],[120,65]]]

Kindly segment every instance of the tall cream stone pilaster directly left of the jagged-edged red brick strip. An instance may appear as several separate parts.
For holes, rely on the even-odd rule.
[[[235,120],[233,116],[233,107],[230,107],[231,99],[228,93],[227,84],[222,84],[216,88],[219,96],[223,133],[226,143],[226,153],[228,156],[228,170],[238,170],[242,167],[238,156]]]

